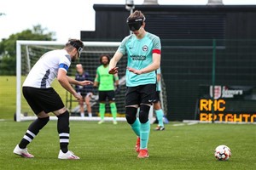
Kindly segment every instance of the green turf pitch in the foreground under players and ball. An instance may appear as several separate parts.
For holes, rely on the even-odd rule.
[[[255,169],[256,127],[253,124],[166,124],[163,132],[151,126],[149,158],[137,159],[136,136],[126,122],[70,122],[69,148],[81,160],[58,160],[56,122],[50,121],[29,144],[35,156],[12,153],[31,122],[0,122],[1,169]],[[229,161],[217,161],[213,150],[230,147]]]

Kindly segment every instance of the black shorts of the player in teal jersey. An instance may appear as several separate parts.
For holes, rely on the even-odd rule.
[[[137,87],[127,87],[125,105],[152,105],[155,99],[156,85],[146,84]]]

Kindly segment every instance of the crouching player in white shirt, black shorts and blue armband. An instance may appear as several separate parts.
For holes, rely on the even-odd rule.
[[[67,77],[67,70],[79,58],[84,48],[83,42],[70,39],[63,49],[52,50],[44,54],[32,67],[22,86],[23,95],[32,111],[38,118],[28,127],[24,137],[17,144],[14,153],[26,158],[32,158],[26,146],[32,142],[40,129],[49,122],[49,113],[53,112],[58,117],[57,130],[60,138],[59,159],[79,159],[72,151],[68,150],[69,143],[69,112],[64,106],[61,97],[51,88],[51,83],[56,78],[62,88],[65,88],[73,97],[80,100],[81,95],[76,93],[71,84],[85,86],[92,84],[90,81],[78,82]]]

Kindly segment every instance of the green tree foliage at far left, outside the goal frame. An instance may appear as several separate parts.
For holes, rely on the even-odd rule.
[[[32,30],[27,29],[16,34],[12,34],[7,39],[0,42],[0,75],[15,75],[16,72],[16,41],[53,41],[55,32],[46,32],[42,26],[33,26]],[[46,32],[46,33],[44,33]]]

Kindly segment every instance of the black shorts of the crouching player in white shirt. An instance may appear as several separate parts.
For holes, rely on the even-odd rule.
[[[23,87],[22,92],[36,115],[41,111],[49,113],[64,107],[60,95],[55,92],[54,88]]]

